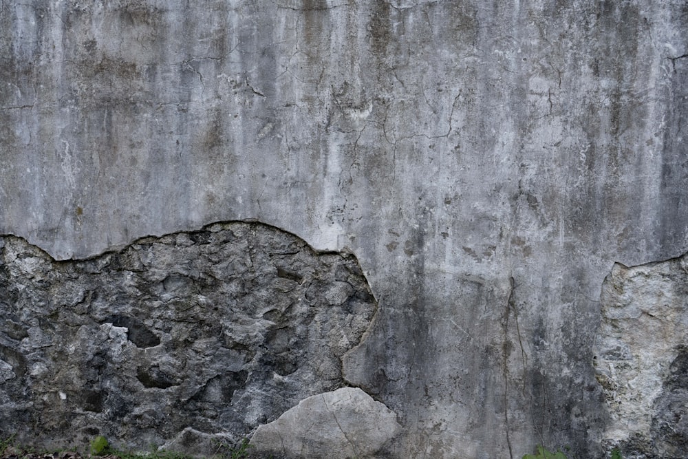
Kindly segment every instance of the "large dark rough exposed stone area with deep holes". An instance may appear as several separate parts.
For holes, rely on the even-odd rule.
[[[208,453],[209,436],[231,445],[345,385],[341,356],[376,310],[352,255],[263,224],[81,261],[1,240],[2,438]]]

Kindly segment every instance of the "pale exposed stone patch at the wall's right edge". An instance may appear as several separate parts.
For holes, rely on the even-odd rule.
[[[602,287],[595,372],[624,458],[688,453],[688,255],[627,268]]]

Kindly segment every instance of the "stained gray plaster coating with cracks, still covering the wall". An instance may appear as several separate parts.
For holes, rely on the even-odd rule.
[[[398,457],[601,457],[599,295],[688,251],[683,0],[0,3],[0,233],[348,248]],[[2,372],[1,374],[6,374]],[[4,376],[3,376],[4,377]]]

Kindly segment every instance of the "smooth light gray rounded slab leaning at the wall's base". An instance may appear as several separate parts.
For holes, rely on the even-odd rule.
[[[250,445],[286,458],[372,458],[399,434],[396,414],[361,389],[344,387],[310,396],[270,424]]]

